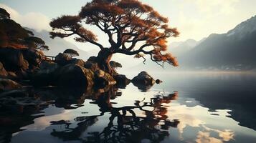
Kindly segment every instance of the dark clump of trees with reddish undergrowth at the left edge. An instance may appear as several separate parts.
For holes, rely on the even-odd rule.
[[[24,29],[10,19],[5,9],[0,9],[0,47],[31,48],[49,50],[44,41],[34,36],[32,31]]]

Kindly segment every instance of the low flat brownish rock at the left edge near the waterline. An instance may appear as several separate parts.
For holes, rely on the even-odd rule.
[[[22,85],[12,81],[11,79],[0,79],[0,92],[14,89],[21,89]]]

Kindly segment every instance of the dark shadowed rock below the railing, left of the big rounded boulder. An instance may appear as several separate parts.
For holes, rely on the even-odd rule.
[[[34,87],[47,87],[57,85],[60,66],[47,61],[42,62],[41,69],[32,74],[31,82]]]

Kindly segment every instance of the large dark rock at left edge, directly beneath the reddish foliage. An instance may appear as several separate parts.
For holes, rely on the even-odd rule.
[[[24,60],[23,54],[19,49],[0,48],[0,61],[4,64],[6,71],[18,71],[27,69],[28,63]]]

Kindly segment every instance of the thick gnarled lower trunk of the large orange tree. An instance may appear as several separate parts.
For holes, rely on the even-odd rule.
[[[97,63],[101,70],[108,72],[110,75],[113,75],[113,69],[110,66],[110,60],[113,53],[109,49],[102,49],[98,53]]]

